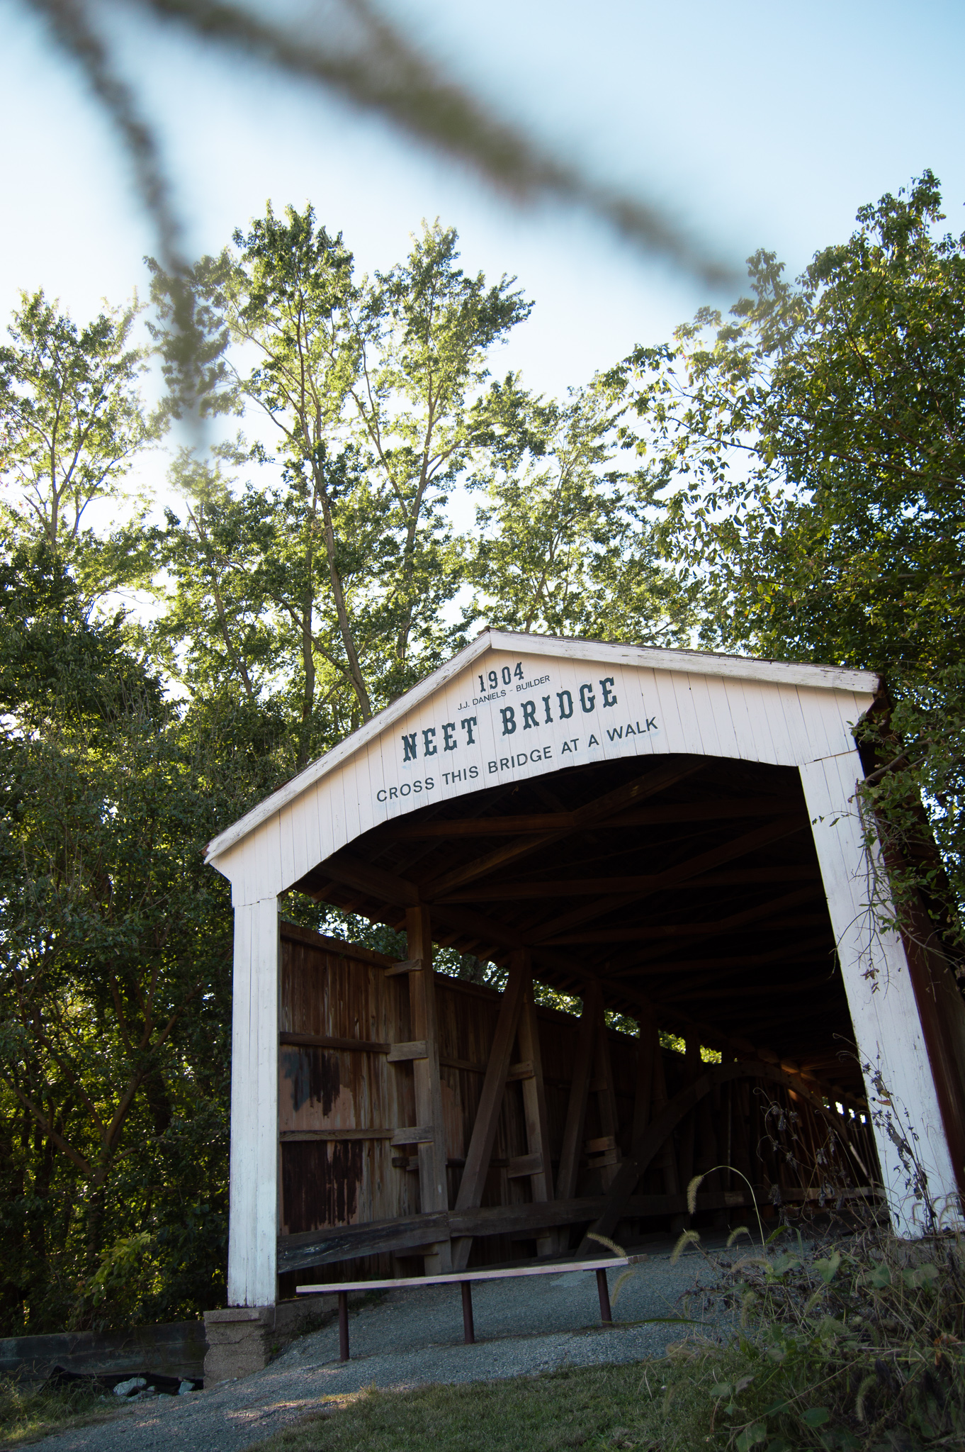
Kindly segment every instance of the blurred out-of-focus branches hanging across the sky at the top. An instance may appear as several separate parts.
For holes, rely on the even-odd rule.
[[[157,138],[139,116],[135,91],[112,62],[90,0],[23,0],[51,25],[81,64],[113,119],[135,167],[136,186],[154,219],[165,272],[181,270],[180,227],[160,163]],[[657,206],[628,196],[543,150],[483,102],[467,94],[369,0],[331,0],[311,29],[295,30],[218,0],[120,0],[128,9],[176,22],[196,39],[244,51],[268,68],[316,83],[374,112],[450,158],[475,168],[518,202],[559,200],[585,208],[621,237],[673,261],[704,283],[734,282],[737,270],[714,256]]]

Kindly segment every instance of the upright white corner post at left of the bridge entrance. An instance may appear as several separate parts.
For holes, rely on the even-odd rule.
[[[276,1302],[279,900],[235,903],[228,1305]]]

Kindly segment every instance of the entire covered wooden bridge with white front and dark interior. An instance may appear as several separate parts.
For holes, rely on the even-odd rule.
[[[878,690],[486,630],[222,832],[229,1304],[679,1227],[701,1172],[698,1220],[750,1180],[769,1214],[958,1221],[962,999],[933,934],[869,908],[852,729]],[[289,893],[406,957],[286,922]]]

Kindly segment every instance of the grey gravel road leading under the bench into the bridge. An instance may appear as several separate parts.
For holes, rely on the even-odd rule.
[[[252,1376],[190,1397],[135,1403],[107,1423],[45,1437],[35,1446],[49,1452],[244,1452],[315,1410],[321,1398],[373,1382],[403,1388],[490,1381],[659,1356],[668,1342],[699,1331],[701,1324],[647,1324],[647,1318],[688,1314],[681,1298],[705,1279],[705,1270],[694,1250],[676,1265],[670,1265],[669,1246],[652,1252],[623,1286],[612,1330],[601,1329],[592,1272],[477,1284],[475,1346],[463,1343],[457,1286],[392,1291],[350,1316],[350,1362],[338,1361],[338,1327],[331,1323],[300,1337]],[[611,1292],[615,1281],[611,1270]],[[702,1297],[691,1300],[689,1314],[705,1334],[714,1334]]]

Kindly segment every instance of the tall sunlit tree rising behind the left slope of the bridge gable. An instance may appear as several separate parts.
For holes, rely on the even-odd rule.
[[[454,231],[438,225],[405,263],[361,282],[341,237],[318,227],[311,208],[289,208],[284,219],[268,208],[235,245],[192,276],[216,385],[208,407],[254,408],[268,421],[282,488],[248,488],[241,511],[237,497],[215,502],[209,491],[206,508],[212,526],[231,518],[229,530],[242,514],[260,521],[257,590],[276,658],[292,662],[289,680],[299,682],[302,767],[327,735],[319,697],[341,696],[357,725],[440,658],[440,613],[463,576],[445,502],[488,434],[486,354],[528,305],[505,277],[496,286],[466,277]],[[160,269],[155,298],[171,324]],[[177,388],[180,335],[168,327],[161,346]],[[268,462],[267,449],[251,457]],[[181,562],[181,594],[197,588],[193,518],[180,536],[180,521],[171,526],[164,556]]]

